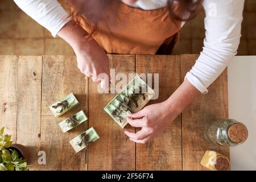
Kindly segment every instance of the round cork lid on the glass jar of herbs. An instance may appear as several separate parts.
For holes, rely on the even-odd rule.
[[[248,131],[242,123],[234,123],[229,127],[228,136],[234,143],[243,143],[248,137]]]

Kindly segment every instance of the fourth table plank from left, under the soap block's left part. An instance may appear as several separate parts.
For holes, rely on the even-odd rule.
[[[134,73],[134,55],[109,55],[110,68],[115,73]],[[114,94],[100,94],[97,84],[89,80],[89,126],[94,127],[100,139],[89,146],[89,170],[134,170],[135,144],[123,133],[103,108]],[[127,126],[126,129],[134,131]]]

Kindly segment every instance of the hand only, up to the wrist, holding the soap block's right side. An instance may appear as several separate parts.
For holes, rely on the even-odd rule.
[[[125,134],[133,142],[147,143],[162,133],[178,114],[166,101],[146,106],[138,113],[130,113],[126,118],[131,126],[142,129],[137,133],[126,130]]]

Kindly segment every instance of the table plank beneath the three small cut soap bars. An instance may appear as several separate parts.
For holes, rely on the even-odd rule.
[[[41,147],[46,151],[46,165],[41,170],[86,170],[86,150],[75,153],[69,141],[88,129],[84,122],[68,133],[58,126],[60,121],[80,110],[88,114],[88,78],[77,68],[75,56],[44,56],[42,73]],[[55,118],[48,106],[68,93],[73,93],[80,104]]]

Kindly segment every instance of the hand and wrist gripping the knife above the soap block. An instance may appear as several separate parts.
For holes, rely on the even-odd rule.
[[[65,24],[58,35],[63,38],[76,53],[77,67],[84,75],[101,82],[102,89],[109,88],[109,58],[104,49],[93,38],[85,40],[88,33],[73,20]]]

